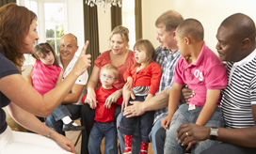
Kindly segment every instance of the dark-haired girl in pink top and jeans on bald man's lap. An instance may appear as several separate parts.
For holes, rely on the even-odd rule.
[[[62,70],[58,66],[56,53],[49,43],[40,43],[34,49],[33,57],[36,62],[31,72],[31,79],[33,87],[44,95],[52,90],[57,84],[61,82]],[[78,126],[73,122],[70,111],[65,105],[59,104],[53,111],[53,115],[57,120],[63,121],[63,131],[80,131],[84,127]]]

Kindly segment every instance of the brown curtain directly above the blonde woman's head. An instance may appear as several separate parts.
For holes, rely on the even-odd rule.
[[[118,6],[111,7],[111,31],[118,25],[121,25],[121,8]]]

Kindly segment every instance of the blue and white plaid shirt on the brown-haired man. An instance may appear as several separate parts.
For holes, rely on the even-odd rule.
[[[167,49],[162,49],[161,46],[159,46],[156,49],[156,59],[155,61],[159,63],[159,65],[162,68],[162,77],[160,81],[159,88],[156,92],[159,93],[163,91],[164,89],[171,87],[173,84],[173,76],[175,72],[175,65],[178,59],[180,58],[181,54],[179,53],[179,50],[176,50],[174,52],[170,52]],[[155,95],[156,95],[155,94]],[[155,111],[154,115],[154,122],[163,114],[168,113],[168,108],[163,108]]]

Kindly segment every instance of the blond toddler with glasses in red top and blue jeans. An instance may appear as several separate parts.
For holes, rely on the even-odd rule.
[[[118,89],[113,84],[119,78],[119,70],[117,67],[106,64],[101,70],[102,86],[95,90],[97,106],[95,109],[95,123],[89,133],[88,151],[90,154],[100,154],[102,140],[104,140],[104,154],[117,154],[117,129],[115,125],[115,110],[117,104],[121,104],[122,97],[116,103],[105,101],[111,94]],[[82,102],[86,102],[87,95],[83,96]],[[91,108],[93,108],[89,104]]]

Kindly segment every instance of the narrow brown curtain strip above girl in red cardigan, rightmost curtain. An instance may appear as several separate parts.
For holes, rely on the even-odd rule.
[[[136,15],[136,40],[138,40],[138,39],[142,39],[141,0],[135,0],[135,15]]]

